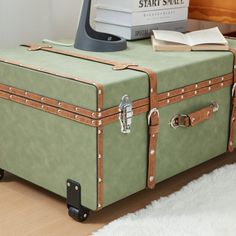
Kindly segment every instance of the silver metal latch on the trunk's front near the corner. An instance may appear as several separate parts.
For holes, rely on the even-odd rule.
[[[120,111],[119,120],[121,125],[121,133],[129,134],[131,130],[132,117],[134,113],[133,113],[133,105],[128,95],[124,95],[122,97],[121,103],[119,105],[119,111]]]

